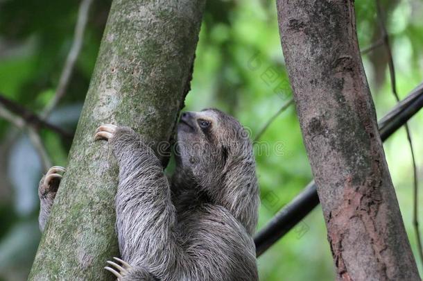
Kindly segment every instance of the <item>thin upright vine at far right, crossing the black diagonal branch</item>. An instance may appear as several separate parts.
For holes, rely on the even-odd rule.
[[[394,60],[392,58],[392,51],[390,49],[389,36],[388,36],[388,32],[386,31],[385,22],[383,21],[383,12],[382,12],[381,3],[379,0],[376,0],[376,10],[377,10],[377,19],[379,21],[379,27],[382,33],[383,46],[385,47],[386,53],[388,54],[388,67],[389,67],[390,85],[392,88],[392,94],[395,96],[395,99],[397,100],[397,102],[399,102]],[[414,196],[413,225],[415,230],[415,236],[417,239],[417,247],[418,247],[417,252],[419,253],[419,256],[420,256],[420,262],[422,262],[423,264],[423,248],[422,248],[422,239],[420,237],[418,205],[417,205],[417,200],[418,200],[417,166],[415,164],[415,154],[414,154],[413,142],[411,141],[410,128],[408,127],[408,124],[404,124],[404,127],[406,128],[406,135],[407,135],[408,144],[410,145],[411,160],[413,163],[413,196]]]

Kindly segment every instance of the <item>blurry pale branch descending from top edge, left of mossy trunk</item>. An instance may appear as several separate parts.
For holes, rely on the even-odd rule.
[[[75,62],[79,56],[81,47],[83,46],[85,27],[87,26],[89,8],[93,0],[83,0],[80,2],[78,10],[78,21],[75,26],[74,42],[64,63],[62,74],[60,75],[59,85],[55,91],[53,98],[46,105],[41,113],[42,119],[46,119],[53,109],[58,105],[60,99],[66,94],[67,86],[71,80],[71,75],[74,72]]]

